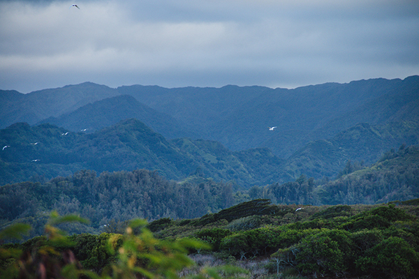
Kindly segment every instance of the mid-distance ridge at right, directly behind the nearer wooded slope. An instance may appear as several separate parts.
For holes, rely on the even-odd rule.
[[[288,158],[284,172],[293,178],[300,174],[316,179],[334,177],[348,160],[370,165],[381,158],[385,151],[418,142],[419,121],[380,126],[358,123],[335,137],[307,143]]]

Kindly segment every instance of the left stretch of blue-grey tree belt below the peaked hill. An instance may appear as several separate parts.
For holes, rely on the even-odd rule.
[[[46,183],[25,182],[0,188],[1,226],[30,223],[34,235],[42,233],[47,212],[78,213],[91,220],[90,227],[71,232],[101,232],[103,225],[133,218],[196,218],[235,202],[233,187],[201,179],[196,183],[167,181],[157,172],[81,171]]]

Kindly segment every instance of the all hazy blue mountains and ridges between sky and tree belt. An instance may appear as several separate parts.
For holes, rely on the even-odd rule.
[[[125,119],[138,119],[152,130]],[[291,181],[301,174],[332,177],[348,160],[371,164],[392,148],[418,144],[419,76],[297,89],[231,85],[176,89],[133,85],[112,89],[86,82],[28,94],[0,91],[0,120],[0,128],[17,122],[43,124],[1,130],[3,145],[19,142],[17,135],[22,130],[27,131],[28,140],[36,140],[31,137],[41,136],[45,129],[54,130],[57,143],[58,136],[66,131],[58,127],[78,132],[71,133],[67,145],[59,143],[58,153],[66,154],[65,162],[48,163],[58,164],[56,169],[64,174],[80,167],[97,171],[145,167],[161,169],[169,179],[182,179],[198,171],[244,186],[263,185]],[[270,131],[268,126],[277,128]],[[51,138],[45,135],[44,140]],[[145,142],[160,146],[152,149]],[[142,146],[148,146],[147,151]],[[46,148],[39,155],[53,150]],[[107,166],[105,158],[112,163]],[[5,157],[5,153],[1,160],[2,164],[30,162],[29,158],[27,162],[15,160],[10,154]],[[48,159],[40,162],[46,164]],[[41,174],[57,173],[46,168]],[[13,176],[10,165],[5,169],[8,174],[3,177]],[[9,182],[17,181],[3,181]]]

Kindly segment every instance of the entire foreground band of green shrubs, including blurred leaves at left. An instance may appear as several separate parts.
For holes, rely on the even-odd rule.
[[[216,278],[219,273],[207,267],[229,264],[244,268],[235,271],[249,278],[418,278],[418,206],[416,199],[297,210],[256,199],[201,218],[126,222],[113,228],[119,233],[71,236],[59,234],[52,227],[59,222],[50,221],[46,236],[3,245],[1,268],[16,276],[35,275],[44,264],[48,272],[59,266],[63,278]],[[224,269],[221,274],[228,274]]]

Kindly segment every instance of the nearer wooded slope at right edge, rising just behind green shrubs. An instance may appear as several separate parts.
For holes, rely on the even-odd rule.
[[[419,149],[391,150],[380,161],[316,189],[322,204],[371,204],[419,197]]]

